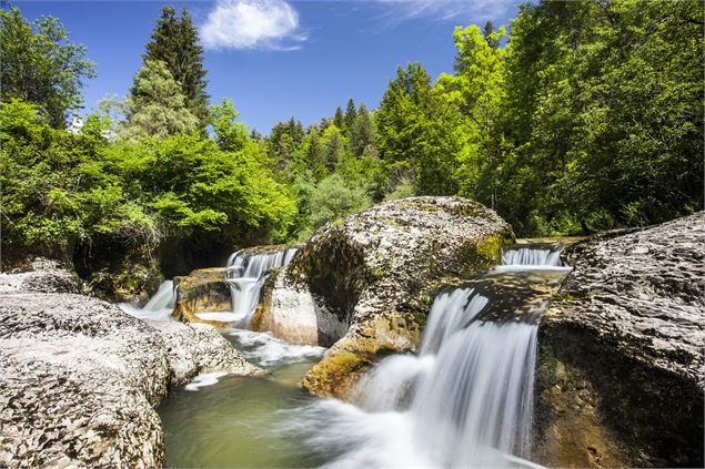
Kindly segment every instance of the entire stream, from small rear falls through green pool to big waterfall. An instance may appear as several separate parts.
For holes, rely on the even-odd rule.
[[[253,258],[234,256],[233,278],[259,282],[258,265],[275,263]],[[168,466],[535,467],[537,324],[567,271],[556,249],[505,251],[502,266],[440,293],[419,354],[380,360],[351,402],[296,387],[322,348],[234,329],[233,346],[273,375],[216,376],[172,394],[159,408]]]

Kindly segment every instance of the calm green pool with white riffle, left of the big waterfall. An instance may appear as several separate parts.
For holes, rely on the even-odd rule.
[[[270,377],[220,377],[211,386],[173,391],[159,407],[169,468],[316,467],[303,436],[282,426],[315,398],[296,384],[324,349],[296,346],[244,330],[228,336]]]

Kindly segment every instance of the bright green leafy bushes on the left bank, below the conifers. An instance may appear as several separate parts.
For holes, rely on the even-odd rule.
[[[229,249],[285,238],[295,201],[262,166],[256,143],[230,152],[178,134],[110,144],[93,125],[72,135],[43,124],[31,104],[3,104],[6,248],[68,257],[115,241],[207,237]]]

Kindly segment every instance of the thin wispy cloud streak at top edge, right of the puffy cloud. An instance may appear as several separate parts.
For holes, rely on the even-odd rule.
[[[444,20],[497,20],[517,0],[377,0],[394,8],[397,20],[433,17]]]

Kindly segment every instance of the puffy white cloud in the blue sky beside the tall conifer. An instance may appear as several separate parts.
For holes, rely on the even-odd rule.
[[[210,50],[296,50],[306,39],[284,0],[218,0],[200,32]]]

